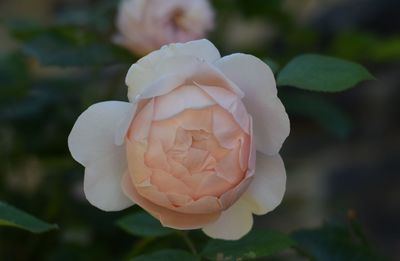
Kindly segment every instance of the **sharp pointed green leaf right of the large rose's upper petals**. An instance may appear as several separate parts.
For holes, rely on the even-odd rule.
[[[338,92],[372,79],[368,70],[357,63],[306,54],[290,61],[279,73],[277,83],[310,91]]]

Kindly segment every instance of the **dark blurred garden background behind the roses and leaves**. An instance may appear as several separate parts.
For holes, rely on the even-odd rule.
[[[82,192],[67,137],[78,115],[126,100],[138,57],[110,43],[115,0],[0,2],[0,199],[59,230],[0,228],[0,260],[126,260],[138,238]],[[357,218],[381,255],[400,260],[400,1],[215,0],[222,54],[278,70],[302,53],[349,59],[375,81],[337,94],[280,87],[291,119],[287,193],[256,226],[285,233]],[[160,239],[156,244],[173,242]],[[303,260],[288,251],[267,260]],[[306,259],[304,259],[306,260]],[[326,259],[334,260],[334,259]]]

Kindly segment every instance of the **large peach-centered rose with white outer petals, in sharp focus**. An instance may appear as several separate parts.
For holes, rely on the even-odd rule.
[[[164,226],[221,239],[279,205],[289,120],[265,63],[197,40],[143,57],[126,84],[130,102],[94,104],[68,139],[91,204],[138,204]]]

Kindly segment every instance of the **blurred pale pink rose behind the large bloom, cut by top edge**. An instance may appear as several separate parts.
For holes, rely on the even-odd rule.
[[[169,43],[203,38],[214,26],[207,0],[122,0],[115,42],[143,55]]]

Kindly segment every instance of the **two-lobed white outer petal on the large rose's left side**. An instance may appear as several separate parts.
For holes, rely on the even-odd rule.
[[[102,210],[116,211],[133,204],[120,186],[127,164],[125,147],[115,144],[118,123],[132,113],[132,106],[116,101],[94,104],[79,116],[68,137],[72,156],[86,167],[86,197]]]

